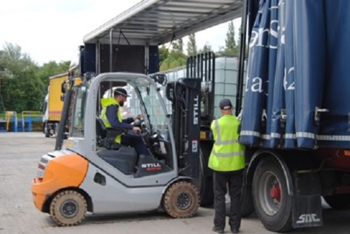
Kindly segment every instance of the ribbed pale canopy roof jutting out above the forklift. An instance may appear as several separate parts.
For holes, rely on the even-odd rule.
[[[241,7],[242,0],[144,0],[85,35],[84,43],[161,45],[240,17]]]

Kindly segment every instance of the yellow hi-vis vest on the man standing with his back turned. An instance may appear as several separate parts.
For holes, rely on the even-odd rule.
[[[244,145],[238,142],[239,124],[235,115],[223,115],[211,123],[215,142],[209,156],[209,168],[223,172],[244,168]]]

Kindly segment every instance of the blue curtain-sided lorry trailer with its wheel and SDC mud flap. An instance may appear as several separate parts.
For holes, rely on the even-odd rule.
[[[350,2],[246,7],[240,142],[255,212],[270,231],[321,226],[322,197],[350,207]]]

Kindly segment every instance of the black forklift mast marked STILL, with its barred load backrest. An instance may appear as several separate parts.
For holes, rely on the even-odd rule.
[[[179,175],[193,177],[197,184],[201,130],[209,129],[214,116],[214,67],[213,52],[188,57],[187,77],[167,83]]]

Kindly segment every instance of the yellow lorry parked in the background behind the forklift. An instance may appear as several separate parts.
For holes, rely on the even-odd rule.
[[[63,106],[63,101],[61,100],[62,83],[66,80],[68,80],[68,73],[54,75],[49,78],[43,116],[43,133],[47,138],[55,135],[57,132]]]

